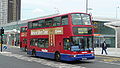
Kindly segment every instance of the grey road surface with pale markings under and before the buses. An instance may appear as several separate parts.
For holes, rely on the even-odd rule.
[[[0,53],[3,56],[9,57],[9,59],[6,59],[6,61],[7,60],[10,61],[11,60],[10,58],[12,58],[12,60],[14,59],[18,60],[17,64],[20,64],[20,63],[23,63],[25,65],[29,64],[31,65],[31,68],[32,66],[35,66],[36,68],[37,67],[38,68],[49,68],[49,67],[50,68],[120,68],[119,57],[96,56],[96,59],[94,60],[83,60],[83,61],[74,61],[74,62],[65,62],[65,61],[56,62],[55,60],[51,60],[51,59],[32,57],[30,55],[27,55],[26,52],[23,52],[19,48],[16,48],[16,47],[10,47],[6,51],[7,52]],[[7,64],[9,65],[9,63]],[[39,64],[40,67],[37,64]],[[4,68],[9,68],[9,67],[4,67]],[[21,67],[21,68],[27,68],[27,66]]]

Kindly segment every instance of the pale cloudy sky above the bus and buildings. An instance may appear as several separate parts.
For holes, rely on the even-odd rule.
[[[21,19],[56,13],[86,12],[86,0],[21,0]],[[88,0],[88,13],[93,17],[120,19],[120,0]],[[117,10],[117,11],[116,11]],[[117,15],[116,15],[117,13]]]

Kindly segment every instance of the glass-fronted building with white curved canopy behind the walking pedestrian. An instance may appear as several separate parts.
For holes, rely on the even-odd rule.
[[[113,26],[106,25],[107,23],[117,22],[120,20],[110,18],[93,18],[94,25],[94,46],[100,48],[103,39],[106,40],[106,44],[109,48],[117,48],[117,31]]]

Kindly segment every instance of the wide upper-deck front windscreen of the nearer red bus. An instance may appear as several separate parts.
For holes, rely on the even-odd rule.
[[[91,25],[90,16],[87,14],[71,14],[73,25]]]

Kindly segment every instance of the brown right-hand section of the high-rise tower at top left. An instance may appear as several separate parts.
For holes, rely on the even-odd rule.
[[[8,23],[20,20],[21,0],[8,0]]]

